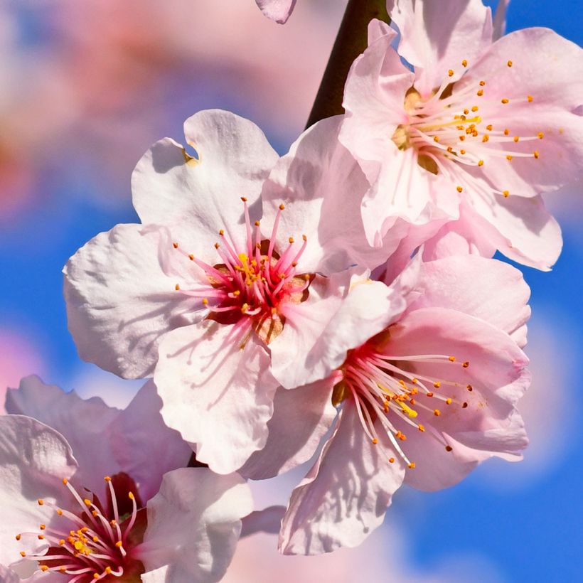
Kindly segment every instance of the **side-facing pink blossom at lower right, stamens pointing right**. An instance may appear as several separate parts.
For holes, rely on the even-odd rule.
[[[276,397],[267,446],[242,469],[269,477],[306,461],[331,424],[330,400],[338,408],[291,495],[282,552],[360,544],[403,482],[437,490],[491,456],[520,459],[528,294],[517,269],[476,255],[416,257],[390,286],[353,282],[324,335],[331,372]]]

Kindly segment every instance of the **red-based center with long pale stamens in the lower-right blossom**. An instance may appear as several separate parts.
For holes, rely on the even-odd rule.
[[[423,375],[420,371],[414,373],[413,370],[422,369],[424,364],[435,363],[468,368],[469,362],[460,362],[455,356],[442,354],[390,354],[385,350],[388,338],[390,330],[387,329],[348,352],[341,366],[343,378],[334,387],[332,403],[338,406],[343,400],[352,399],[360,424],[373,444],[379,443],[378,428],[382,427],[397,453],[413,469],[414,461],[408,459],[400,446],[407,436],[395,427],[395,421],[398,419],[412,429],[427,432],[446,451],[451,451],[451,446],[445,442],[442,434],[432,427],[431,420],[442,414],[439,407],[443,405],[453,405],[460,409],[468,407],[467,401],[462,402],[454,395],[444,394],[444,388],[465,387],[470,392],[473,390],[471,385]],[[375,423],[377,420],[380,426]],[[391,464],[394,461],[393,457],[389,457]]]

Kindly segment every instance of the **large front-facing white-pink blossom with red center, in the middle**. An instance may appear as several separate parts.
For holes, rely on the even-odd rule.
[[[144,224],[98,235],[65,267],[82,358],[129,378],[155,370],[166,423],[221,474],[264,446],[276,378],[317,342],[347,267],[387,257],[343,208],[364,192],[362,171],[336,126],[324,136],[333,141],[318,132],[309,134],[325,158],[303,158],[300,146],[269,175],[278,157],[254,124],[194,115],[185,133],[196,156],[164,139],[134,171]]]

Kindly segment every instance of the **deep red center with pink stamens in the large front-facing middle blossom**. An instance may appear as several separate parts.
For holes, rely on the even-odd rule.
[[[307,297],[312,276],[299,273],[297,269],[307,237],[302,235],[299,247],[294,237],[289,237],[288,246],[279,254],[274,248],[275,237],[284,205],[279,205],[271,237],[267,240],[262,238],[260,221],[255,221],[252,228],[247,199],[242,198],[242,201],[247,228],[245,249],[238,249],[228,240],[225,231],[220,230],[221,242],[215,243],[219,259],[216,264],[210,265],[194,255],[187,255],[204,270],[208,283],[192,289],[182,289],[176,284],[176,291],[200,298],[208,309],[208,319],[220,323],[251,319],[255,331],[269,343],[283,329],[282,304],[297,304]],[[173,243],[173,247],[178,249],[178,243]]]

